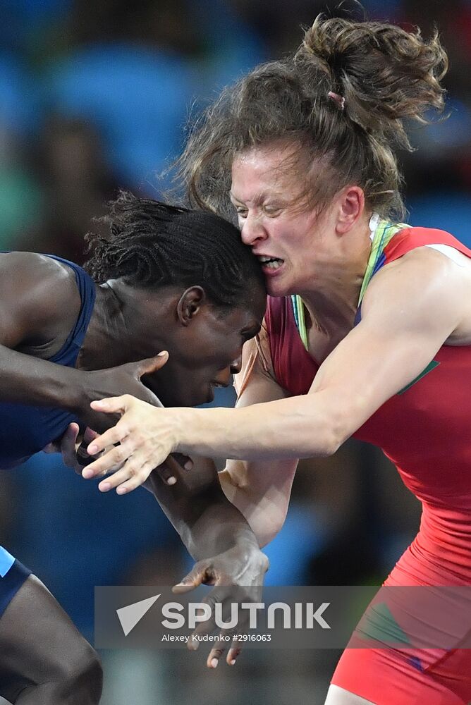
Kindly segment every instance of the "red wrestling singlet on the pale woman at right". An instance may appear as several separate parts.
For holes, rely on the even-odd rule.
[[[384,247],[377,269],[441,244],[471,257],[444,231],[405,228]],[[307,393],[319,368],[302,344],[290,298],[269,297],[265,320],[276,379],[293,396]],[[443,345],[422,376],[354,437],[379,446],[422,503],[417,537],[385,584],[471,585],[471,345]],[[470,621],[467,611],[463,637]],[[462,705],[471,701],[471,649],[347,649],[332,682],[379,705]]]

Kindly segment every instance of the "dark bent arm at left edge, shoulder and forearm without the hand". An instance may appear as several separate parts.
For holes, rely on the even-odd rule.
[[[61,348],[79,311],[71,270],[42,255],[0,255],[2,401],[76,410],[80,372],[40,356]]]

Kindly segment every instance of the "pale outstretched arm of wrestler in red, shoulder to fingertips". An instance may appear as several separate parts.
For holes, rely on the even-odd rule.
[[[410,252],[374,276],[361,323],[322,364],[310,393],[233,410],[153,410],[129,397],[94,403],[123,417],[90,452],[123,444],[92,467],[132,455],[114,482],[133,489],[147,477],[149,453],[157,462],[175,450],[253,461],[331,455],[448,339],[471,343],[470,290],[469,266],[429,248]]]

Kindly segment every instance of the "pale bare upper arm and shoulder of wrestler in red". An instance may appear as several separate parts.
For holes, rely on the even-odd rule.
[[[460,321],[469,283],[452,281],[446,262],[426,255],[389,268],[370,284],[362,321],[327,357],[310,389],[313,403],[338,425],[339,442],[419,376]]]

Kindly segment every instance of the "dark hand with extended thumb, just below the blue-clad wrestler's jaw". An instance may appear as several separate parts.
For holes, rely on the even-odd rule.
[[[152,406],[160,406],[157,396],[142,384],[141,377],[152,375],[157,372],[169,359],[169,353],[165,350],[155,357],[139,362],[127,362],[118,367],[109,369],[96,369],[82,374],[82,388],[80,390],[80,402],[75,409],[78,417],[87,426],[95,429],[99,433],[110,429],[119,419],[117,414],[105,415],[99,413],[97,408],[90,408],[90,402],[118,393],[132,394],[137,399],[147,402]]]

